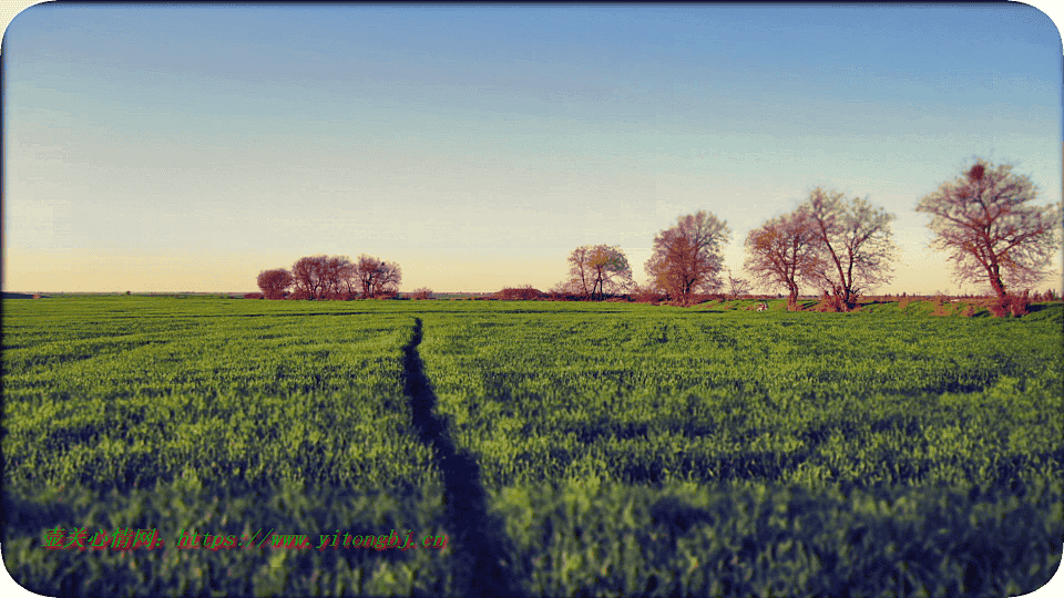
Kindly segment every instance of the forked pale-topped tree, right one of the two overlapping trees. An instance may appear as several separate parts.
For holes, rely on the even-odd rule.
[[[839,308],[853,309],[858,296],[891,280],[893,214],[866,199],[847,202],[841,193],[819,187],[799,209],[814,221],[820,252],[810,280],[831,293]]]

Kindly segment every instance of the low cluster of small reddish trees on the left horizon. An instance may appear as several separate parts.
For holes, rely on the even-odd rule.
[[[293,264],[291,270],[278,268],[258,274],[258,288],[266,299],[386,297],[398,293],[401,281],[398,264],[367,255],[359,256],[357,261],[347,256],[307,256]]]

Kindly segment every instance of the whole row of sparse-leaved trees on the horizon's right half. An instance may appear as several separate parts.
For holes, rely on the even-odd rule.
[[[1030,205],[1037,189],[1012,166],[981,158],[952,182],[925,196],[917,212],[932,216],[932,247],[947,251],[961,282],[985,283],[1004,302],[1009,289],[1043,279],[1060,246],[1062,206]],[[848,311],[861,295],[892,278],[897,248],[893,214],[866,199],[817,188],[797,209],[766,221],[747,235],[744,267],[761,286],[786,289],[797,307],[801,285],[819,288],[836,309]],[[723,276],[722,248],[727,223],[698,212],[654,237],[646,262],[648,289],[638,289],[620,247],[577,247],[569,257],[569,279],[555,292],[602,299],[606,295],[648,290],[689,302],[694,293],[727,287],[748,292],[749,282],[730,270]]]

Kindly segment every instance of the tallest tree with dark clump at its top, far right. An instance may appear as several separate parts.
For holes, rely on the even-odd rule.
[[[1061,236],[1061,205],[1032,206],[1037,188],[1012,166],[982,158],[920,200],[931,215],[931,247],[948,251],[960,282],[989,283],[1000,301],[1010,288],[1045,278]]]

